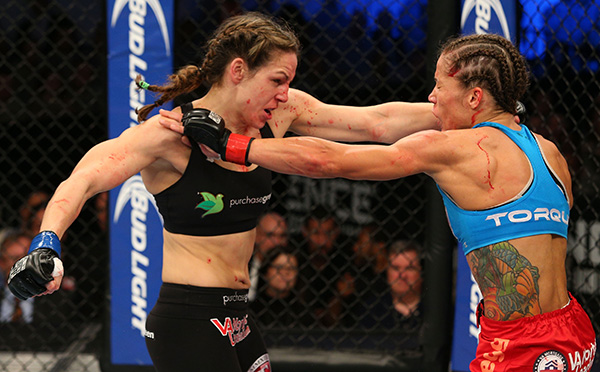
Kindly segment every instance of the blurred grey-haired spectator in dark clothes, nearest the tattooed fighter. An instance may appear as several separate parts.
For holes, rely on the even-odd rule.
[[[364,327],[383,329],[394,335],[394,347],[419,347],[423,282],[420,252],[420,246],[412,241],[392,243],[388,250],[389,288],[383,295],[374,293],[358,314]]]

